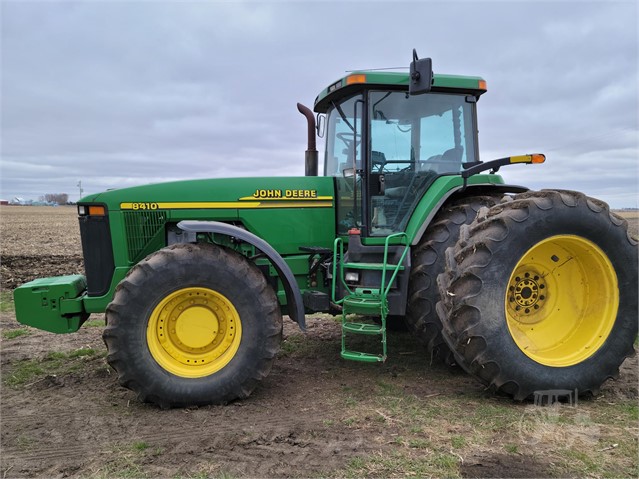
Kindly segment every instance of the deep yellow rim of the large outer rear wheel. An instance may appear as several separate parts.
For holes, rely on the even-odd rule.
[[[515,343],[538,363],[566,367],[592,356],[617,317],[617,274],[593,242],[547,238],[515,266],[506,291],[506,320]]]

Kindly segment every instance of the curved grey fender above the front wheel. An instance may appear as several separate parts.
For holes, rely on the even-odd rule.
[[[180,221],[177,227],[190,233],[219,233],[232,236],[255,246],[266,255],[282,281],[286,302],[288,303],[289,316],[295,321],[302,331],[306,331],[306,319],[304,317],[304,302],[302,293],[295,281],[295,275],[289,268],[284,258],[275,249],[259,236],[237,226],[221,223],[219,221]]]

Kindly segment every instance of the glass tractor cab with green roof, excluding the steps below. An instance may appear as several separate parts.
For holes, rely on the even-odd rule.
[[[425,94],[410,77],[355,72],[315,101],[326,114],[324,175],[335,178],[337,231],[364,237],[406,230],[417,203],[442,175],[479,162],[479,77],[434,75]]]

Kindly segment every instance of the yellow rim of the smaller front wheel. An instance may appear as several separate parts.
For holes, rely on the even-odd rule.
[[[213,374],[237,353],[242,324],[233,303],[208,288],[166,296],[149,318],[149,351],[166,371],[186,378]]]

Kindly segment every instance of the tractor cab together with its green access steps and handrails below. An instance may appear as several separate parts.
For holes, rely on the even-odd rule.
[[[324,175],[335,181],[331,299],[342,310],[344,359],[386,359],[387,317],[406,314],[409,221],[436,180],[479,164],[485,81],[433,75],[425,61],[415,58],[410,74],[354,72],[315,100],[326,114]],[[378,336],[381,354],[348,347],[352,334]]]

